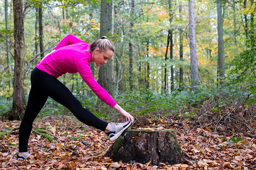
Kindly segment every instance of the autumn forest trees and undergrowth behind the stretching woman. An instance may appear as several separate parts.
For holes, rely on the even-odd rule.
[[[253,0],[195,1],[195,69],[192,67],[189,7],[193,1],[108,1],[105,20],[100,1],[22,1],[24,45],[16,58],[15,7],[0,2],[0,70],[3,119],[20,119],[36,62],[69,33],[86,42],[104,32],[115,44],[110,69],[96,70],[94,78],[112,94],[138,126],[152,120],[189,122],[228,136],[255,130],[255,2]],[[193,2],[194,3],[194,2]],[[191,10],[191,8],[190,8]],[[16,36],[19,36],[20,33]],[[221,41],[222,40],[222,41]],[[18,42],[18,41],[17,41]],[[190,43],[189,43],[190,42]],[[23,95],[17,95],[17,60]],[[193,78],[196,70],[197,79]],[[111,73],[108,82],[101,75]],[[79,74],[59,78],[96,116],[116,121],[118,114],[100,103]],[[110,84],[109,84],[110,82]],[[22,97],[20,97],[22,96]],[[14,102],[22,98],[22,104]],[[16,101],[16,100],[15,100]],[[17,114],[16,114],[17,113]],[[48,99],[39,117],[69,115]],[[207,129],[208,129],[207,128]],[[209,130],[208,129],[208,130]]]

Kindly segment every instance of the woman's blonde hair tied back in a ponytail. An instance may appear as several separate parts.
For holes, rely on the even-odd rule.
[[[102,36],[100,39],[94,40],[90,44],[90,52],[93,52],[96,48],[98,48],[100,52],[106,52],[107,50],[115,52],[115,45],[106,36]]]

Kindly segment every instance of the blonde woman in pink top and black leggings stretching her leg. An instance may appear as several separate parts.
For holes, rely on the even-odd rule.
[[[112,41],[105,36],[88,44],[73,35],[67,35],[42,61],[36,64],[31,73],[31,90],[28,96],[27,108],[19,128],[18,160],[28,158],[28,138],[32,123],[43,108],[46,100],[51,97],[67,107],[81,122],[94,128],[105,131],[114,141],[129,128],[134,118],[122,109],[112,97],[93,78],[90,71],[90,62],[97,66],[107,63],[113,56],[115,47]],[[86,84],[104,103],[119,111],[123,123],[109,124],[102,121],[87,109],[72,95],[71,91],[57,78],[65,73],[79,73]],[[129,121],[125,122],[125,118]]]

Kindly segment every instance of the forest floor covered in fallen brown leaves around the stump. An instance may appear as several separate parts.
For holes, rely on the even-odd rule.
[[[113,162],[104,156],[113,144],[105,133],[73,116],[48,116],[34,121],[28,149],[31,156],[24,161],[16,160],[20,121],[0,122],[0,169],[256,169],[255,122],[251,122],[252,131],[236,135],[217,133],[212,125],[195,126],[185,118],[144,122],[138,120],[131,128],[174,129],[186,162],[159,166]],[[51,135],[53,143],[39,129]]]

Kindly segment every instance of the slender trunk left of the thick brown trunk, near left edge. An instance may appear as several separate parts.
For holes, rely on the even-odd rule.
[[[8,1],[5,0],[5,29],[6,31],[9,32],[9,17],[8,17]],[[8,71],[9,74],[12,75],[12,70],[11,70],[11,57],[10,57],[10,39],[9,36],[6,36],[6,49],[7,49],[7,53],[6,53],[6,58],[7,58],[7,65],[8,65]],[[11,88],[11,79],[9,79],[9,88]]]

